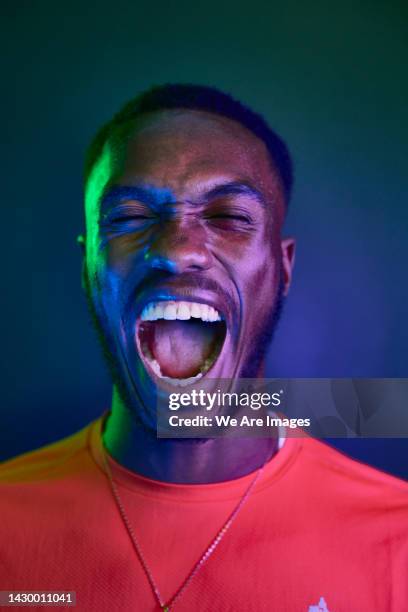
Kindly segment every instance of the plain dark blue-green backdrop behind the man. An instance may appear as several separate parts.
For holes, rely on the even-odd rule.
[[[80,289],[81,165],[153,83],[231,91],[293,152],[297,265],[268,374],[407,376],[406,5],[250,7],[2,3],[1,458],[109,405]],[[408,476],[405,440],[336,444]]]

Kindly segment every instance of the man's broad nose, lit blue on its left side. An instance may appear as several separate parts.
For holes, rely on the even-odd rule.
[[[205,231],[198,224],[167,221],[146,252],[145,261],[152,269],[182,274],[208,270],[212,255]]]

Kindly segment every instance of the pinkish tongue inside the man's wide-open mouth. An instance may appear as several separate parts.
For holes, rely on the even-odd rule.
[[[161,373],[171,378],[189,378],[199,373],[216,341],[216,326],[199,321],[156,321],[150,350]]]

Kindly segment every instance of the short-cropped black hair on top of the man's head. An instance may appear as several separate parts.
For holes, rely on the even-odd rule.
[[[258,113],[227,93],[204,85],[157,85],[140,93],[97,132],[85,157],[85,181],[113,129],[144,113],[169,109],[189,109],[215,113],[237,121],[264,142],[282,180],[286,203],[293,187],[293,162],[285,142]]]

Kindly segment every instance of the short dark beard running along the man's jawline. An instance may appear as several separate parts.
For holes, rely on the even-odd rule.
[[[84,273],[84,289],[91,324],[96,332],[109,377],[112,380],[113,385],[116,387],[120,400],[137,425],[142,427],[146,434],[154,434],[154,436],[156,436],[156,430],[148,427],[140,417],[143,401],[139,396],[137,386],[134,381],[132,381],[131,385],[129,385],[129,383],[126,381],[123,365],[117,356],[115,343],[113,342],[111,335],[105,329],[101,318],[98,316],[95,302],[92,297],[91,283],[87,269],[85,269]],[[266,323],[264,323],[255,334],[252,349],[249,352],[244,365],[241,367],[239,373],[240,378],[259,378],[259,372],[264,364],[267,350],[272,342],[273,335],[282,314],[284,300],[284,277],[283,268],[281,267],[279,285],[273,307],[269,311]],[[199,444],[206,441],[204,438],[181,438],[180,440],[184,443],[193,442]]]

